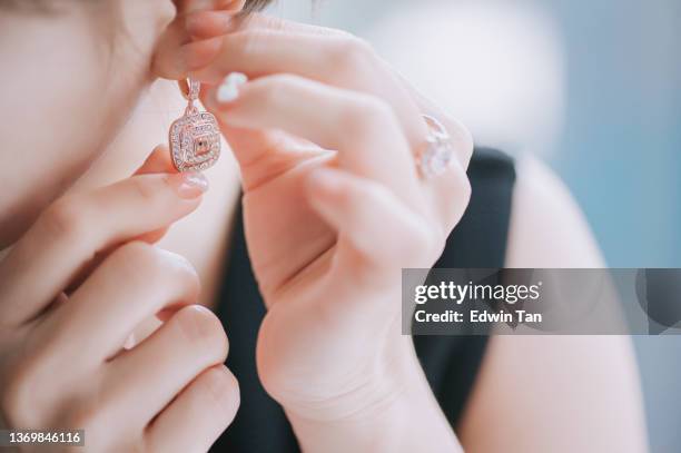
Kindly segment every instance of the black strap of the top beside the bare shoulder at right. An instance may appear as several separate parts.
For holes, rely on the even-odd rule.
[[[515,167],[509,156],[478,148],[468,166],[471,203],[435,267],[504,267]],[[482,364],[485,336],[415,336],[428,383],[457,426]]]

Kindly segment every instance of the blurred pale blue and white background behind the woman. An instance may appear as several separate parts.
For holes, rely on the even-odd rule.
[[[681,267],[680,0],[279,0],[272,12],[369,40],[478,144],[546,161],[611,267]],[[651,449],[681,451],[681,337],[634,342]]]

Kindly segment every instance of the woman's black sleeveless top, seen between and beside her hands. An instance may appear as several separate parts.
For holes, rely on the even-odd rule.
[[[471,203],[435,267],[504,267],[511,197],[515,183],[507,156],[478,148],[468,167]],[[282,407],[258,380],[255,349],[265,305],[246,249],[241,213],[236,215],[217,314],[229,336],[227,366],[239,381],[241,405],[215,452],[298,452]],[[452,426],[458,424],[485,353],[485,336],[415,336],[428,383]]]

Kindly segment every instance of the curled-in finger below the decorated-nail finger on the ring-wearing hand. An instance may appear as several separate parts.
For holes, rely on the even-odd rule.
[[[430,267],[442,252],[442,229],[375,181],[322,168],[308,177],[306,194],[338,234],[338,259],[346,263],[337,268],[355,280],[381,282],[396,267]]]

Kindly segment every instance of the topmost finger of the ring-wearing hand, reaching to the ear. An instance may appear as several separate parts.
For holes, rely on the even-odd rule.
[[[393,108],[412,146],[421,145],[427,135],[421,112],[402,82],[357,38],[246,28],[221,40],[218,55],[193,71],[194,78],[215,85],[231,72],[244,72],[250,78],[296,75],[383,99]]]

